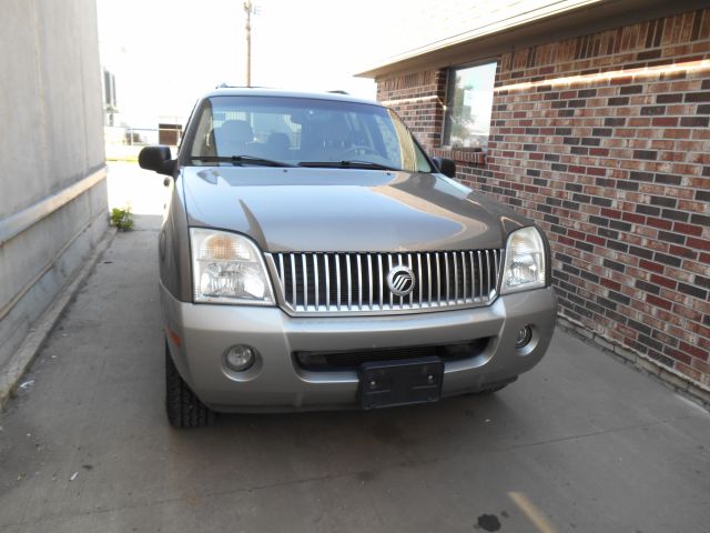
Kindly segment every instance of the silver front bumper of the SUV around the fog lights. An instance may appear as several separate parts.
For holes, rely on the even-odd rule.
[[[161,284],[169,346],[182,378],[209,406],[223,412],[356,408],[355,371],[310,372],[296,351],[358,350],[447,344],[488,338],[469,359],[446,362],[443,396],[486,389],[530,370],[552,336],[557,299],[551,288],[498,296],[489,306],[402,315],[293,318],[278,308],[193,304]],[[523,350],[515,336],[525,325],[532,339]],[[174,338],[176,335],[176,339]],[[233,344],[261,358],[242,374],[223,366]]]

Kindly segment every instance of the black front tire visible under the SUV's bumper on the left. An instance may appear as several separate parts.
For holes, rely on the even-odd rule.
[[[175,368],[165,343],[165,411],[173,428],[202,428],[214,422],[215,413],[192,392]]]

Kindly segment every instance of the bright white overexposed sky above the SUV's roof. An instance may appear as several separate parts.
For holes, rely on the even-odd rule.
[[[404,2],[412,6],[419,0]],[[382,2],[382,0],[381,0]],[[184,120],[219,83],[245,83],[243,0],[98,0],[102,66],[115,76],[120,120]],[[387,3],[387,2],[384,2]],[[394,2],[387,8],[394,9]],[[252,86],[375,98],[353,74],[396,53],[375,0],[256,0]]]

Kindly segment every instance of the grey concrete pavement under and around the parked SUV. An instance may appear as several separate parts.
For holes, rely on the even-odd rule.
[[[170,429],[159,223],[116,234],[2,413],[0,532],[707,531],[710,414],[561,331],[493,396]]]

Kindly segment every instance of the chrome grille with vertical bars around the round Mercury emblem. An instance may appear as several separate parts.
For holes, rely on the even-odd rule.
[[[501,250],[447,252],[267,253],[282,304],[294,313],[396,312],[487,305],[496,298]],[[408,266],[406,296],[387,285],[388,272]]]

